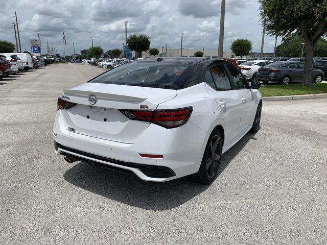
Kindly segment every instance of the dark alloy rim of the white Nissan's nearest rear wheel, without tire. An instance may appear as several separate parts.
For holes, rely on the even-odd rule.
[[[209,178],[216,175],[220,163],[221,140],[218,135],[215,135],[208,147],[206,155],[206,171]]]

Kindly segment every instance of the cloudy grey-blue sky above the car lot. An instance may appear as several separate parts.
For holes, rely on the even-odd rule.
[[[62,30],[66,55],[94,45],[104,51],[122,48],[127,35],[147,34],[151,47],[218,48],[221,0],[0,0],[0,40],[15,42],[14,12],[19,19],[22,50],[30,51],[29,39],[40,35],[63,55]],[[252,41],[253,52],[260,51],[262,26],[255,0],[226,0],[224,51],[237,38]],[[277,45],[279,40],[277,42]],[[266,35],[264,52],[273,52],[274,37]]]

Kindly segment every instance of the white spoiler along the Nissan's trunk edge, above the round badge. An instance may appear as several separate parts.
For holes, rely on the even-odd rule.
[[[102,93],[95,91],[87,90],[77,90],[77,89],[64,89],[63,93],[65,95],[73,95],[78,97],[89,97],[91,94],[96,95],[97,99],[100,100],[111,100],[111,101],[130,101],[130,102],[142,102],[148,98],[129,96],[124,94],[115,94],[115,93]]]

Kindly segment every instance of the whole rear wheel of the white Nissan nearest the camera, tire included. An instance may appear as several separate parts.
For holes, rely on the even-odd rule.
[[[190,176],[193,181],[209,184],[215,180],[220,164],[222,145],[220,132],[215,129],[205,146],[199,171]]]

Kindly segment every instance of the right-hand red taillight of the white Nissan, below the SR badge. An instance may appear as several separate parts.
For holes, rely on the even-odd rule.
[[[166,129],[180,127],[189,120],[193,108],[185,107],[172,110],[120,110],[132,120],[153,122]]]

